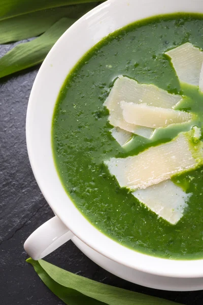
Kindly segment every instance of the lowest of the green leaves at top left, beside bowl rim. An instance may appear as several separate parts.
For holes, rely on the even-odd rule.
[[[21,43],[0,58],[0,78],[43,62],[58,38],[76,19],[62,18],[40,37]]]

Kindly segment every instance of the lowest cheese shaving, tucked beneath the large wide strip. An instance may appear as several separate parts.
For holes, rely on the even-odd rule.
[[[158,216],[175,225],[182,218],[188,206],[186,202],[192,194],[186,194],[171,180],[166,180],[132,195]]]

